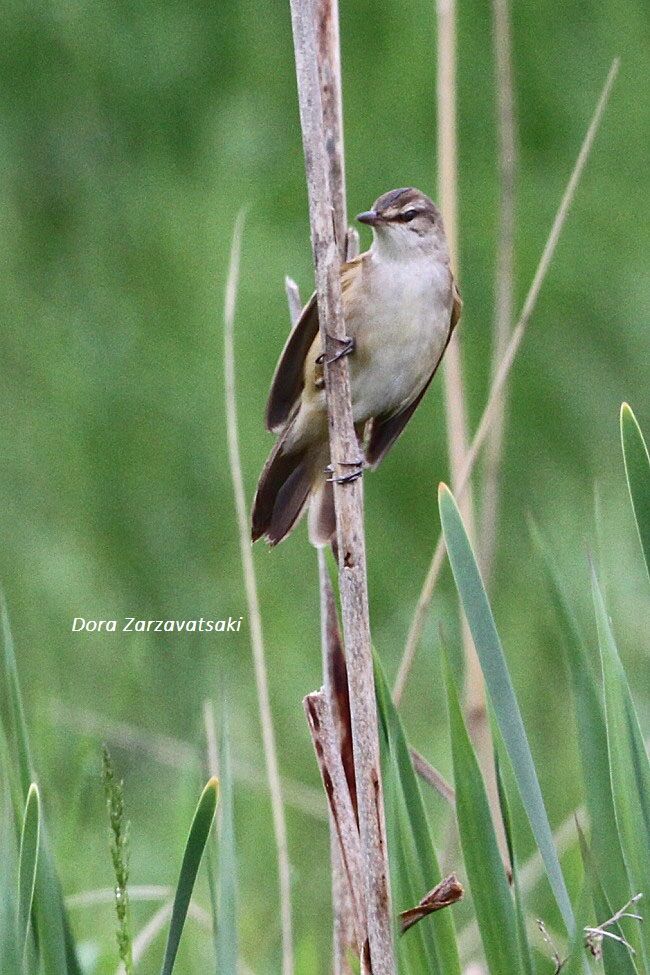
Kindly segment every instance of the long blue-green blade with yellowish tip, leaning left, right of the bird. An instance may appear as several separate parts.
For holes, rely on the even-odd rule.
[[[483,580],[454,497],[440,486],[438,502],[449,561],[474,639],[494,714],[512,763],[515,780],[539,848],[551,889],[567,930],[575,919],[537,780],[519,705],[508,673]]]

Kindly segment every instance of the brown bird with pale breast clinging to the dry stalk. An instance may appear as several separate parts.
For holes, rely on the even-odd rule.
[[[370,250],[341,266],[350,354],[352,414],[365,462],[376,467],[433,379],[458,322],[461,299],[449,266],[440,211],[412,187],[392,190],[360,213]],[[284,347],[266,408],[278,440],[260,475],[252,538],[277,545],[310,504],[309,534],[336,531],[318,306],[312,295]]]

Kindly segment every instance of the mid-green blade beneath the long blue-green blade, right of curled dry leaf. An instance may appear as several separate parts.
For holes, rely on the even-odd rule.
[[[456,786],[456,818],[485,959],[490,975],[516,975],[523,969],[514,907],[485,785],[446,657],[445,680]]]

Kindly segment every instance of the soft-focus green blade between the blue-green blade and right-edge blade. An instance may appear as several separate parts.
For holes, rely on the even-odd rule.
[[[596,684],[578,624],[551,555],[535,526],[531,526],[531,533],[546,569],[571,678],[578,748],[591,823],[592,856],[609,899],[615,904],[624,904],[634,892],[630,890],[618,836],[600,688]]]

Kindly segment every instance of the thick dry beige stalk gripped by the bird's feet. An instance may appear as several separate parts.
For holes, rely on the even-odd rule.
[[[314,13],[312,3],[291,0],[318,312],[323,345],[329,353],[344,339],[345,325],[328,161],[328,155],[336,150],[333,144],[325,145]],[[345,357],[326,366],[325,383],[330,459],[334,477],[341,478],[350,473],[350,465],[360,460]],[[346,484],[335,481],[334,503],[370,956],[374,975],[394,975],[386,828],[368,618],[362,478]]]

